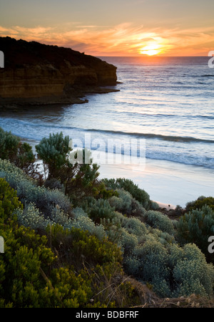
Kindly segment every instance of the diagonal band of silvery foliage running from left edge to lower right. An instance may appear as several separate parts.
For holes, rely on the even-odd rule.
[[[17,213],[19,222],[24,226],[45,229],[49,224],[61,224],[65,229],[75,227],[88,230],[100,239],[107,235],[121,246],[126,273],[143,283],[152,284],[158,296],[189,296],[193,293],[213,295],[213,265],[207,263],[205,255],[195,244],[185,244],[183,247],[176,244],[175,229],[170,219],[158,212],[143,211],[143,216],[136,218],[113,211],[113,202],[114,206],[118,202],[123,209],[131,209],[133,200],[130,194],[121,192],[118,198],[121,200],[113,197],[111,205],[103,200],[93,201],[88,212],[76,208],[72,210],[71,217],[67,211],[70,202],[62,192],[36,187],[34,181],[9,162],[0,160],[0,177],[5,177],[24,201],[24,210]],[[40,202],[49,205],[49,216],[44,214]],[[207,212],[210,214],[209,209]],[[103,218],[106,230],[102,224],[93,222],[89,217],[91,213],[96,217],[107,215],[108,218]],[[198,224],[197,218],[201,214],[193,214],[195,222],[186,217],[184,224],[187,226],[184,229]],[[209,222],[209,218],[202,218],[205,220],[203,224]]]

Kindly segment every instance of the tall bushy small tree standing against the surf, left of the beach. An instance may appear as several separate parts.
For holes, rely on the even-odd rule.
[[[73,199],[96,194],[99,167],[92,164],[91,152],[82,150],[82,160],[78,162],[76,156],[79,151],[73,151],[73,158],[71,151],[70,139],[63,137],[63,133],[49,135],[36,145],[36,152],[44,162],[44,170],[49,173],[48,180],[59,180],[65,187],[65,193]]]

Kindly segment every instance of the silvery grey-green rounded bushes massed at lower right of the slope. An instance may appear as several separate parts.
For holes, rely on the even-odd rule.
[[[143,283],[153,285],[158,296],[189,296],[199,294],[212,296],[214,269],[208,264],[205,255],[195,244],[181,247],[168,232],[170,224],[165,217],[159,229],[141,222],[137,218],[123,217],[116,212],[121,221],[120,239],[126,273],[135,276]],[[163,231],[160,229],[163,227]],[[111,237],[111,232],[108,234]]]

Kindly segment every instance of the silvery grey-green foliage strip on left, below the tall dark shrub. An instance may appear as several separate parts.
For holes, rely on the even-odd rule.
[[[96,225],[83,209],[71,210],[68,197],[59,190],[36,187],[22,170],[6,160],[0,160],[0,177],[4,177],[24,204],[24,210],[17,213],[19,223],[35,230],[46,229],[51,224],[60,224],[64,229],[88,230],[102,239],[106,236],[103,226]],[[109,206],[110,207],[110,206]]]

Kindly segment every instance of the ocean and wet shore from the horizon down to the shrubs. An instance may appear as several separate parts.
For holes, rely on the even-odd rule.
[[[193,186],[195,194],[188,195],[187,191],[185,202],[188,197],[199,197],[203,192],[212,195],[214,68],[209,68],[209,58],[142,56],[101,59],[117,66],[120,83],[113,88],[119,89],[119,92],[88,95],[88,103],[81,105],[53,105],[1,113],[0,127],[32,145],[49,136],[49,133],[61,131],[78,142],[83,142],[86,135],[91,135],[92,142],[112,139],[127,142],[128,145],[131,140],[144,140],[145,154],[137,154],[136,157],[146,157],[146,164],[152,166],[157,174],[164,165],[165,175],[170,174],[171,179],[173,175],[178,179],[178,172],[182,172],[181,179],[191,173],[188,182],[192,180],[194,184],[197,180]],[[104,152],[106,146],[99,145],[99,149]],[[126,155],[126,152],[125,149],[123,154]],[[120,167],[121,171],[116,168],[118,165],[111,165],[105,175],[114,177],[120,173],[123,177],[133,178],[130,165]],[[143,170],[139,169],[134,177],[144,188],[141,180]],[[156,177],[155,185],[148,185],[153,199],[158,198],[162,187],[158,180],[160,177]],[[145,185],[148,181],[145,180]],[[170,187],[172,185],[173,181]],[[178,198],[173,199],[176,185],[173,189],[168,187],[165,194],[161,192],[158,201],[179,203],[179,198],[183,198],[179,192]],[[204,191],[200,186],[207,189]],[[189,187],[186,189],[189,190]],[[180,200],[179,204],[182,203],[183,200]]]

